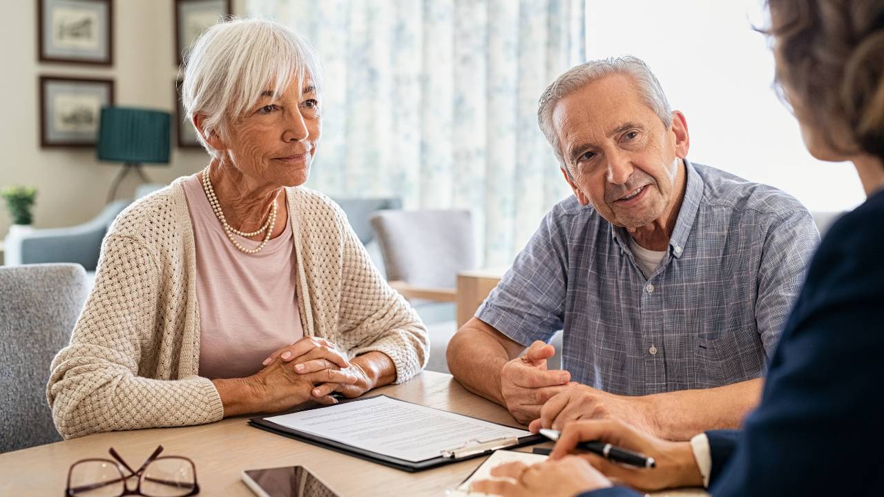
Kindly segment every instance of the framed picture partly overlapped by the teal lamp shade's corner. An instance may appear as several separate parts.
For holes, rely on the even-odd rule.
[[[113,80],[40,77],[40,146],[94,147],[102,107],[113,105]]]

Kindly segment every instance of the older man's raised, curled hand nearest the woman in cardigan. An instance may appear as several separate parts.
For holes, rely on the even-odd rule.
[[[500,371],[500,394],[519,423],[528,424],[540,417],[544,403],[568,385],[568,371],[546,370],[546,360],[554,355],[552,345],[537,340]]]

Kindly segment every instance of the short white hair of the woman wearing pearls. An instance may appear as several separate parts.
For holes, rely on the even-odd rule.
[[[257,103],[263,91],[279,95],[306,77],[322,95],[322,67],[316,49],[273,20],[229,19],[206,29],[196,40],[184,68],[181,100],[187,121],[203,116],[203,133],[228,136],[233,120]],[[299,90],[302,88],[299,88]],[[213,157],[212,149],[197,136]]]

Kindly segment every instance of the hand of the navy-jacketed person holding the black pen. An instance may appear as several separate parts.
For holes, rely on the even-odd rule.
[[[582,453],[586,461],[615,479],[640,490],[650,491],[676,486],[703,486],[703,477],[694,459],[690,442],[670,442],[619,421],[575,421],[565,425],[552,449],[550,459],[564,461],[577,450],[582,441],[600,440],[628,448],[654,458],[654,468],[632,468],[612,463],[600,455]]]

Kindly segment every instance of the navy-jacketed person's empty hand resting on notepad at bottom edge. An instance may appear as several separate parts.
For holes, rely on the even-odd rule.
[[[574,455],[531,466],[523,463],[500,464],[492,468],[492,477],[511,479],[480,480],[469,487],[470,492],[505,497],[573,497],[577,493],[611,486],[604,475]]]

